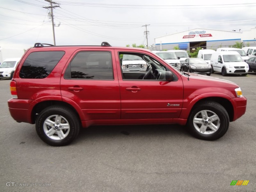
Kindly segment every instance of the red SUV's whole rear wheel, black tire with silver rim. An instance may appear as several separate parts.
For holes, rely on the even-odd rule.
[[[47,119],[49,123],[55,124],[46,124]],[[69,129],[63,129],[64,126],[69,126]],[[50,129],[54,134],[47,135],[46,132],[49,133]],[[70,144],[77,137],[80,131],[80,120],[71,109],[65,106],[53,105],[42,110],[38,115],[36,131],[45,143],[52,146],[64,146]],[[63,138],[60,138],[62,136]]]

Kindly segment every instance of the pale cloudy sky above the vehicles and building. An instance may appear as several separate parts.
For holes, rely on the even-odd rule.
[[[188,29],[248,31],[256,27],[255,0],[62,0],[53,4],[56,45],[155,44],[154,38]],[[54,44],[50,4],[0,0],[0,47]]]

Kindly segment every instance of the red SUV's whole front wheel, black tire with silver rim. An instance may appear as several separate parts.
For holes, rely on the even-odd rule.
[[[202,115],[205,114],[205,112],[207,114],[205,116],[206,119],[203,118]],[[215,118],[213,118],[213,115],[215,115]],[[200,118],[202,118],[201,120],[205,122],[201,122]],[[209,121],[211,118],[212,121]],[[199,123],[197,123],[197,121]],[[205,124],[206,122],[207,124]],[[216,140],[227,132],[229,127],[229,115],[226,109],[217,102],[201,102],[191,110],[187,121],[187,126],[190,133],[196,138],[208,141]],[[214,127],[216,130],[212,130],[210,126]],[[200,129],[204,129],[204,127],[206,127],[206,129],[200,132]]]

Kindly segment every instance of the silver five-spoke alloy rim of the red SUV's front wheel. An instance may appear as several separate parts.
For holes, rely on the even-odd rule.
[[[199,111],[193,118],[195,129],[202,134],[215,133],[220,127],[218,115],[209,110]]]

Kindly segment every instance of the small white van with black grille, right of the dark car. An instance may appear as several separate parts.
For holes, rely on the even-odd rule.
[[[236,51],[216,51],[211,55],[212,73],[247,75],[249,66]]]

